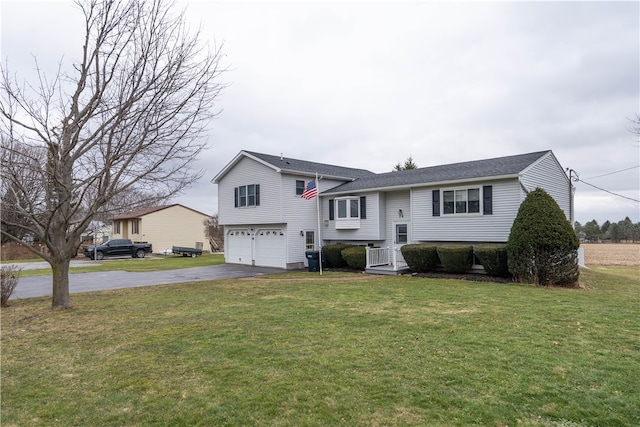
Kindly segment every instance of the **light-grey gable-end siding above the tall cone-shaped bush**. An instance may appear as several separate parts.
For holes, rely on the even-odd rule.
[[[558,203],[560,209],[564,211],[567,220],[569,220],[569,178],[552,153],[547,154],[527,168],[522,173],[521,182],[527,191],[533,191],[540,187],[549,193]],[[527,194],[523,190],[522,200],[526,196]]]

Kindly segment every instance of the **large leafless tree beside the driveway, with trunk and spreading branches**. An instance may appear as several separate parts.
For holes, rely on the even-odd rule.
[[[129,209],[164,201],[202,176],[192,162],[224,88],[220,48],[203,46],[173,4],[76,5],[85,34],[73,71],[61,61],[47,75],[36,61],[35,82],[6,64],[0,77],[2,233],[46,246],[31,250],[51,264],[53,308],[72,306],[69,262],[97,214],[117,198]]]

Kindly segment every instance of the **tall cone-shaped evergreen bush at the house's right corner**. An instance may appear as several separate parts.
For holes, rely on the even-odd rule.
[[[546,191],[536,188],[520,205],[511,226],[509,271],[522,283],[572,286],[580,276],[579,245],[560,206]]]

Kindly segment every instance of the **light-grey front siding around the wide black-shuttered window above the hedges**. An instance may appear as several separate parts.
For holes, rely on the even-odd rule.
[[[483,185],[493,186],[493,215],[445,215],[441,209],[439,217],[432,216],[432,190]],[[515,179],[457,184],[452,187],[416,188],[413,190],[411,203],[413,241],[506,242],[520,203],[520,184]]]

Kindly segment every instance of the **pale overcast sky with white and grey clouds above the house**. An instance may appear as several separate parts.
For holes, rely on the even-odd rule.
[[[178,4],[224,43],[229,84],[179,203],[216,213],[210,181],[243,149],[374,172],[550,149],[581,178],[576,220],[640,221],[637,1]],[[12,72],[78,57],[71,2],[1,13]]]

